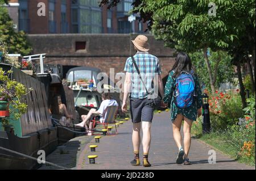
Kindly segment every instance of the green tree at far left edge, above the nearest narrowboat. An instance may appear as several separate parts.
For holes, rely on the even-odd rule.
[[[7,1],[0,0],[0,40],[6,43],[9,53],[27,55],[32,50],[31,45],[23,31],[14,31],[13,20],[10,18],[6,7],[3,6],[4,3]]]

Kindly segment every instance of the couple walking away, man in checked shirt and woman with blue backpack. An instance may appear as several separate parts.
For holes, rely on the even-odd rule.
[[[141,145],[141,128],[143,132],[143,166],[150,167],[148,153],[151,143],[151,123],[154,114],[153,92],[159,91],[163,107],[170,106],[172,129],[174,140],[177,145],[178,154],[176,163],[191,165],[188,158],[191,146],[191,126],[197,116],[201,116],[201,89],[199,81],[191,64],[188,54],[180,52],[177,54],[175,64],[170,71],[168,80],[163,87],[159,60],[156,56],[148,53],[147,37],[139,35],[132,41],[137,53],[129,57],[125,65],[125,91],[123,95],[122,111],[127,112],[126,100],[130,99],[130,112],[133,121],[133,149],[134,159],[131,165],[141,165],[139,159],[139,148]],[[144,76],[143,76],[144,75]],[[152,86],[153,84],[153,86]],[[151,96],[151,97],[150,97]],[[181,144],[180,128],[184,120],[184,148]]]

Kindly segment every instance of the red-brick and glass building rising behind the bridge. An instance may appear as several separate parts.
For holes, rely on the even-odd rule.
[[[99,0],[11,0],[19,4],[18,30],[38,33],[143,33],[146,23],[129,22],[134,0],[108,10]]]

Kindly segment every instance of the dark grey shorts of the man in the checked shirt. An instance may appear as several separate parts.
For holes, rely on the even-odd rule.
[[[151,103],[152,101],[147,98],[130,98],[131,120],[133,120],[133,123],[141,123],[141,121],[152,122],[154,108]]]

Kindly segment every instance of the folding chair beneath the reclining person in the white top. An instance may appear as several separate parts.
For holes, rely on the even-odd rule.
[[[106,119],[104,119],[101,123],[101,121],[97,121],[96,117],[93,118],[93,128],[95,128],[96,124],[104,125],[105,129],[108,129],[108,124],[115,124],[115,118],[117,117],[117,106],[109,106],[106,110]],[[92,131],[92,134],[95,131]],[[110,135],[109,131],[107,132],[108,135]],[[115,134],[117,134],[117,125],[115,125]],[[93,134],[98,135],[98,134]]]

